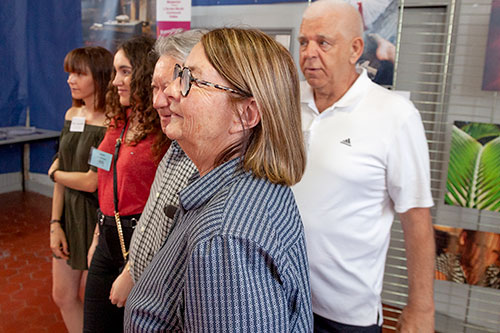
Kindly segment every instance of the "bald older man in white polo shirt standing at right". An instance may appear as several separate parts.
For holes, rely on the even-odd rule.
[[[409,280],[400,329],[433,332],[434,239],[429,154],[413,104],[356,70],[357,10],[320,0],[300,28],[304,177],[293,190],[304,221],[316,332],[380,332],[381,291],[395,213]]]

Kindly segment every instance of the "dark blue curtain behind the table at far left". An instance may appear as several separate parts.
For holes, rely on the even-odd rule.
[[[60,130],[71,95],[64,56],[82,45],[80,0],[0,1],[0,126]],[[55,142],[32,144],[30,171],[45,173]],[[0,149],[0,173],[20,170],[19,147]]]

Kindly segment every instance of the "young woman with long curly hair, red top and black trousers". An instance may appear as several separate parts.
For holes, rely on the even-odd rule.
[[[156,168],[168,148],[152,105],[155,40],[140,36],[115,54],[106,95],[108,131],[99,146],[99,212],[89,250],[84,332],[121,332],[123,308],[110,291],[127,260],[135,224],[146,204]]]

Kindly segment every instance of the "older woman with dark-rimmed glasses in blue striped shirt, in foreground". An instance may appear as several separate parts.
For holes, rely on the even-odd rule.
[[[174,80],[166,134],[198,172],[132,289],[125,330],[312,331],[304,232],[289,188],[305,166],[290,54],[260,31],[217,29]]]

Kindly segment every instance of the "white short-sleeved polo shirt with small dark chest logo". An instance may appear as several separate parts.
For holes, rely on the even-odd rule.
[[[433,205],[429,153],[413,104],[363,70],[319,113],[301,83],[307,164],[292,189],[304,222],[314,313],[382,323],[380,294],[394,212]]]

